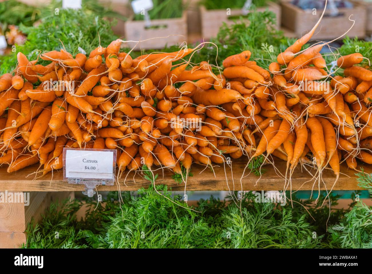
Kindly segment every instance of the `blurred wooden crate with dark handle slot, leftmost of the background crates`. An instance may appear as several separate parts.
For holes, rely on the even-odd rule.
[[[125,40],[141,41],[138,44],[128,42],[125,46],[134,47],[135,50],[160,49],[166,45],[180,45],[183,41],[187,41],[186,11],[183,12],[181,18],[155,19],[151,20],[151,25],[152,27],[147,29],[145,21],[125,22]]]

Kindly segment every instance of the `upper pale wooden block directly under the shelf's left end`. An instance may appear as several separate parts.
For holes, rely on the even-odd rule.
[[[5,191],[3,192],[5,195]],[[12,193],[15,198],[23,192]],[[25,204],[23,202],[0,202],[0,231],[1,232],[24,232],[25,226]]]

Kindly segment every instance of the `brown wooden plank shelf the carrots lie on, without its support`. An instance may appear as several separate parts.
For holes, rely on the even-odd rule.
[[[215,176],[212,171],[207,168],[202,173],[204,169],[203,166],[193,164],[192,173],[193,176],[189,177],[187,180],[186,190],[282,190],[284,187],[285,180],[280,177],[280,173],[273,169],[271,165],[263,166],[267,169],[266,173],[259,177],[254,174],[249,174],[244,177],[242,183],[240,183],[241,174],[243,173],[244,167],[247,161],[244,159],[233,159],[232,161],[232,172],[231,169],[226,169],[226,175],[223,167],[214,167]],[[285,163],[280,160],[275,161],[275,166],[278,170],[285,174]],[[155,168],[155,166],[154,166]],[[371,173],[372,166],[363,166],[365,172]],[[49,173],[44,177],[33,179],[34,175],[26,177],[28,174],[33,173],[37,169],[36,166],[27,167],[23,170],[19,170],[16,173],[7,173],[6,167],[0,167],[0,191],[80,191],[84,190],[83,185],[73,185],[65,182],[63,180],[62,171],[54,172],[53,179],[52,174]],[[248,169],[245,174],[248,174]],[[336,190],[356,190],[359,189],[357,186],[355,170],[350,170],[346,165],[341,166],[341,172],[339,181],[336,183],[334,189]],[[185,184],[176,183],[172,177],[170,171],[164,170],[164,174],[161,170],[158,171],[159,176],[155,181],[155,184],[166,184],[171,187],[172,190],[184,190]],[[231,178],[231,173],[234,175]],[[278,174],[279,175],[278,175]],[[314,173],[314,170],[312,170]],[[142,179],[139,175],[135,176],[135,181],[133,180],[134,173],[132,172],[126,179],[126,185],[124,185],[123,179],[119,180],[119,183],[115,183],[114,186],[98,186],[98,191],[112,190],[138,190],[139,188],[147,188],[149,182]],[[164,178],[164,179],[163,179]],[[226,179],[227,178],[227,179]],[[309,173],[306,170],[297,168],[292,176],[292,190],[311,190],[313,188],[314,180],[307,182],[310,179]],[[321,182],[320,189],[330,189],[334,183],[335,176],[333,171],[324,170],[322,175],[323,182]],[[325,185],[324,185],[325,184]],[[288,188],[289,189],[289,188]],[[314,189],[318,189],[318,182],[315,183]]]

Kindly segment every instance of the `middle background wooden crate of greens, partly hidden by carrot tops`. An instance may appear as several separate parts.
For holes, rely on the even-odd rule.
[[[263,12],[266,9],[272,11],[276,15],[276,27],[280,27],[280,6],[273,2],[267,2],[267,7],[257,8],[258,12]],[[216,37],[219,28],[222,26],[222,23],[227,23],[232,25],[234,20],[229,19],[231,16],[243,15],[241,9],[231,9],[230,15],[227,15],[227,11],[224,9],[218,10],[207,10],[204,6],[200,6],[200,16],[202,23],[202,37],[209,39],[211,37]]]

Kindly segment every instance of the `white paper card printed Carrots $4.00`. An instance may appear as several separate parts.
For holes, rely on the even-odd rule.
[[[87,179],[112,179],[112,151],[66,151],[66,177]]]

